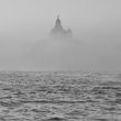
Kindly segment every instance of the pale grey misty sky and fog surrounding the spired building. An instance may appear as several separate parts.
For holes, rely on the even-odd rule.
[[[47,40],[57,14],[75,42]],[[121,70],[120,52],[121,0],[0,0],[1,69]]]

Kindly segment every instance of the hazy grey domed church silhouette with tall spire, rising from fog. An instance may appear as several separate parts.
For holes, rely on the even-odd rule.
[[[51,38],[55,38],[55,40],[72,40],[73,38],[72,30],[70,29],[65,30],[62,26],[62,22],[61,22],[59,15],[57,15],[57,20],[55,22],[55,26],[51,31],[50,37]]]

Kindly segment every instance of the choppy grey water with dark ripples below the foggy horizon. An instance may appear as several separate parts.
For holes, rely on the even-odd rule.
[[[121,121],[121,74],[1,72],[0,121]]]

